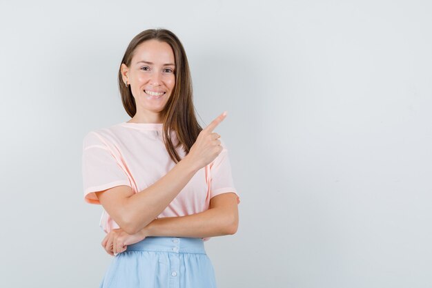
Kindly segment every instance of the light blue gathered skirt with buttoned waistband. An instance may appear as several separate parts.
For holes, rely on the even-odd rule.
[[[146,237],[112,259],[99,288],[216,288],[202,238]]]

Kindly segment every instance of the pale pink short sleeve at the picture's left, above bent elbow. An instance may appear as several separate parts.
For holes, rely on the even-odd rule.
[[[115,186],[131,186],[128,175],[121,168],[106,140],[95,131],[90,131],[83,140],[82,177],[84,200],[90,204],[101,204],[95,192]]]

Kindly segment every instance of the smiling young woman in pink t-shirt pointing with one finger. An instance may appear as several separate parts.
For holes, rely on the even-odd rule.
[[[238,227],[228,151],[213,132],[226,113],[199,126],[186,53],[166,29],[130,41],[118,80],[132,119],[83,142],[84,199],[104,207],[101,244],[115,256],[100,287],[216,287],[204,241]]]

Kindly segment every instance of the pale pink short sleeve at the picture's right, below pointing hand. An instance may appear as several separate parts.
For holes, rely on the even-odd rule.
[[[210,166],[210,199],[222,193],[233,192],[237,194],[237,204],[240,202],[239,193],[235,189],[233,175],[231,173],[231,165],[228,157],[228,149],[221,138],[221,146],[223,150],[215,158]]]

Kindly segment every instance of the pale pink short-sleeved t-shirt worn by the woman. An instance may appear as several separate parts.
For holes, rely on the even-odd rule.
[[[100,204],[95,192],[119,185],[127,185],[138,193],[155,183],[175,162],[171,160],[162,138],[163,124],[122,122],[108,128],[90,131],[83,140],[82,175],[84,200]],[[171,133],[177,143],[175,131]],[[234,187],[228,151],[224,148],[207,166],[199,169],[176,198],[157,218],[176,217],[206,211],[210,199],[222,193],[239,194]],[[182,146],[176,148],[181,159],[185,156]],[[99,226],[106,233],[119,225],[104,210]],[[203,238],[204,241],[210,238]]]

